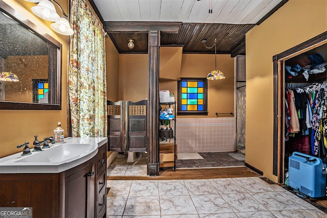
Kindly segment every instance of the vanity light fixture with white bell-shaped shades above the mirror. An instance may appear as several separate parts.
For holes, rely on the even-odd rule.
[[[41,17],[42,19],[45,20],[53,21],[54,23],[50,25],[52,30],[66,36],[71,36],[74,34],[74,30],[71,28],[71,25],[68,21],[67,18],[68,16],[65,14],[64,10],[62,9],[62,7],[59,5],[58,2],[52,0],[60,7],[63,14],[63,16],[61,17],[57,14],[56,8],[51,0],[25,0],[25,1],[33,2],[33,3],[39,2],[39,4],[37,6],[33,6],[31,10],[38,17]]]

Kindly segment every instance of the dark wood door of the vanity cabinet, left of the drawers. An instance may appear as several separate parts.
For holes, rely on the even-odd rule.
[[[65,217],[95,217],[95,163],[65,178]]]

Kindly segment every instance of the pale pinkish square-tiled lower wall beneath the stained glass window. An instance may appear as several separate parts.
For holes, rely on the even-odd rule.
[[[177,119],[178,153],[235,151],[235,120],[235,117]]]

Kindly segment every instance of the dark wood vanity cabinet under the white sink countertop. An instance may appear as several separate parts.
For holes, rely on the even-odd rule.
[[[90,160],[57,174],[0,174],[0,207],[33,217],[105,217],[107,143]]]

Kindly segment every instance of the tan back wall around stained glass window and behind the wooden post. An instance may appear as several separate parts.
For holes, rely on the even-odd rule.
[[[170,49],[171,52],[169,52]],[[180,60],[176,47],[160,47],[160,51],[162,50],[164,52],[160,52],[160,64],[165,63],[169,66],[164,66],[164,64],[160,66],[159,90],[170,90],[171,93],[175,94],[175,98],[177,96],[177,79],[181,77],[204,78],[208,72],[215,68],[214,55],[183,54]],[[169,56],[169,58],[165,56]],[[230,55],[217,55],[217,68],[224,72],[226,79],[208,81],[207,104],[209,113],[205,117],[216,117],[216,112],[234,112],[234,59]],[[169,72],[169,75],[162,74],[162,72]],[[137,102],[146,99],[147,95],[148,55],[120,54],[119,100]]]

